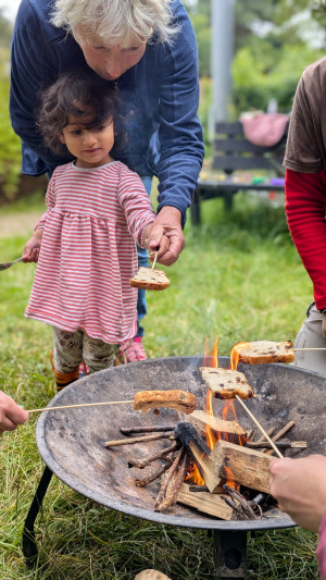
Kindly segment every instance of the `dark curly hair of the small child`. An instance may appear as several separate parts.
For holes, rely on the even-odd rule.
[[[71,71],[62,74],[55,83],[40,92],[40,109],[36,115],[36,124],[45,146],[53,153],[67,152],[59,135],[68,124],[70,116],[77,118],[78,123],[85,128],[102,125],[112,118],[115,135],[120,141],[125,139],[118,92],[110,82],[97,74],[79,70]],[[87,122],[83,123],[83,116],[87,116]]]

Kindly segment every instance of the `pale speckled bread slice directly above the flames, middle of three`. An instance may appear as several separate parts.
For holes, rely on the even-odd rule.
[[[247,399],[254,396],[242,372],[214,367],[201,367],[199,370],[215,398],[235,398],[238,395]]]

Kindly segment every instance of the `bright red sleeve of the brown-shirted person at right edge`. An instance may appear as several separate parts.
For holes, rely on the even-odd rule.
[[[285,192],[289,230],[312,280],[316,307],[326,308],[326,173],[287,169]]]

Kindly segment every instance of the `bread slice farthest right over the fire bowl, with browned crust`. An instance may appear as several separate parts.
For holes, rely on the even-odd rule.
[[[291,341],[283,341],[280,343],[274,343],[273,341],[238,343],[233,347],[230,356],[234,359],[238,357],[238,360],[250,365],[292,362],[294,360]]]

